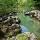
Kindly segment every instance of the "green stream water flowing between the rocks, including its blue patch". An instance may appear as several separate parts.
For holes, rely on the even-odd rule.
[[[21,25],[23,25],[23,32],[33,32],[40,38],[40,22],[35,18],[25,16],[23,13],[19,13],[18,16],[21,19]]]

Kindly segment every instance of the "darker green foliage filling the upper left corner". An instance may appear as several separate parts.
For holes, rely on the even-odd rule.
[[[15,0],[0,0],[0,12],[7,13],[16,8],[17,1]]]

